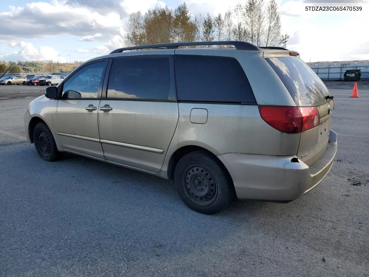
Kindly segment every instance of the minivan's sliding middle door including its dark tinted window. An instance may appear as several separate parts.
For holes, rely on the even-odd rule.
[[[174,51],[158,52],[163,54],[115,58],[107,98],[99,106],[106,160],[155,173],[161,170],[179,116]]]

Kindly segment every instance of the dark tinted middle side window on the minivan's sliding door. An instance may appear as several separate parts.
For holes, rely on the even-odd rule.
[[[169,57],[115,59],[111,66],[107,98],[168,100]]]

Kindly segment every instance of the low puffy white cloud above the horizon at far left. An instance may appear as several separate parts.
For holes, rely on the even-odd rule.
[[[0,58],[7,61],[47,61],[52,59],[53,61],[66,62],[66,59],[61,57],[59,52],[52,47],[41,46],[40,49],[37,49],[32,43],[24,41],[15,44],[14,47],[19,48],[19,50],[13,51],[12,54],[0,54]]]

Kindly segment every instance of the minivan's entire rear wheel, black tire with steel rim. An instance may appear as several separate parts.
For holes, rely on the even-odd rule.
[[[178,161],[174,184],[187,207],[206,215],[220,212],[234,198],[228,171],[216,157],[202,150],[188,153]]]

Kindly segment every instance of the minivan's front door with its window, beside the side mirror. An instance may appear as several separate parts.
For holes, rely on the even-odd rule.
[[[107,59],[94,61],[76,71],[62,85],[62,98],[52,112],[60,146],[78,154],[104,159],[97,111]]]

